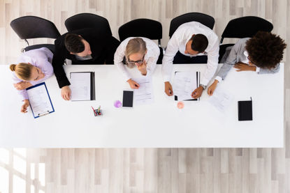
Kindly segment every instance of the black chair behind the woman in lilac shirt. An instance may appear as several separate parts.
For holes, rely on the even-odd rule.
[[[36,16],[19,17],[10,22],[11,28],[17,33],[20,39],[27,42],[27,47],[23,51],[37,49],[41,47],[48,47],[52,52],[55,52],[55,45],[40,44],[29,45],[27,39],[33,38],[59,38],[60,33],[57,27],[52,22]]]

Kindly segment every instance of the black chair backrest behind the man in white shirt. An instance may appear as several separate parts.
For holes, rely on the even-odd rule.
[[[210,15],[206,15],[203,13],[185,13],[171,20],[171,25],[169,28],[169,37],[171,38],[175,30],[181,24],[187,22],[200,22],[201,24],[208,26],[208,28],[210,29],[213,29],[213,26],[215,25],[215,19]]]

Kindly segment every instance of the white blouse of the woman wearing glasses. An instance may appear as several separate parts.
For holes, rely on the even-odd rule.
[[[124,41],[122,41],[122,43],[119,45],[119,47],[117,48],[115,55],[114,55],[114,63],[115,63],[115,65],[117,65],[119,70],[121,70],[122,74],[124,75],[124,79],[126,81],[131,79],[131,75],[128,72],[128,70],[126,70],[126,67],[122,61],[123,61],[124,56],[125,56],[126,46],[129,42],[129,40],[131,40],[133,38],[136,38],[136,37],[126,38]],[[150,40],[148,38],[142,38],[142,39],[145,41],[146,48],[147,48],[147,53],[145,54],[144,60],[147,62],[146,77],[149,77],[152,75],[152,73],[154,72],[154,69],[156,67],[156,63],[157,63],[157,60],[158,60],[158,57],[160,54],[160,49],[157,46],[157,44],[154,43],[152,40]]]

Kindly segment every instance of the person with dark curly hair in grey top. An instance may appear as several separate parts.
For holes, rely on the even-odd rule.
[[[286,48],[284,40],[273,33],[259,31],[252,38],[242,38],[233,47],[227,47],[222,57],[222,68],[217,73],[215,82],[208,87],[212,95],[217,84],[224,80],[231,68],[241,71],[254,71],[258,74],[270,74],[280,70],[280,61]]]

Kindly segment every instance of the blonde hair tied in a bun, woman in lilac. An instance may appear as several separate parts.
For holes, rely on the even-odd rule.
[[[34,68],[34,65],[30,63],[18,63],[11,64],[9,66],[10,70],[15,72],[16,76],[23,80],[30,80],[31,70]]]

